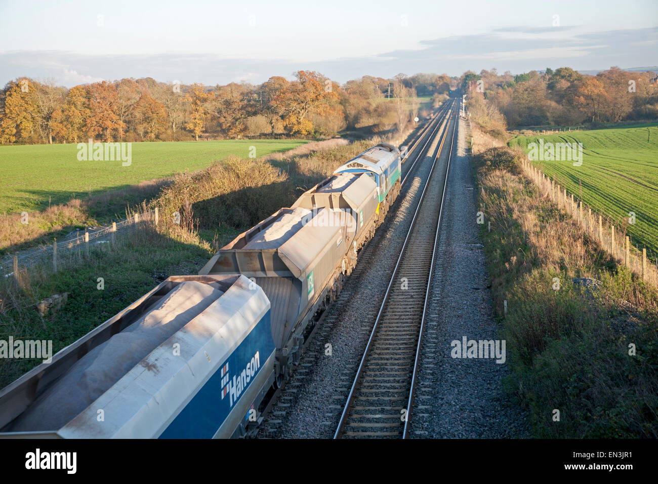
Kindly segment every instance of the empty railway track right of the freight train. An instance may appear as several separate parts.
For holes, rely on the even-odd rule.
[[[449,122],[443,132],[334,438],[407,437],[457,114],[451,133]]]

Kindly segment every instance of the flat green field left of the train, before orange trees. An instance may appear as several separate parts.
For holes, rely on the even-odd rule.
[[[249,157],[287,151],[305,140],[221,140],[132,143],[130,166],[122,161],[79,161],[76,144],[0,146],[0,213],[41,210],[126,188],[176,172],[196,171],[228,155]],[[93,157],[92,157],[93,158]]]

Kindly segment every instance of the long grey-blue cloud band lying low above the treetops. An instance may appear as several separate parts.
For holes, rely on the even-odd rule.
[[[466,70],[479,72],[492,67],[501,72],[563,66],[596,70],[613,65],[647,65],[655,59],[658,27],[605,32],[582,32],[577,27],[561,29],[555,31],[560,32],[559,35],[550,36],[521,26],[505,31],[428,39],[420,42],[418,49],[313,62],[172,52],[86,55],[68,51],[0,51],[0,80],[7,82],[18,76],[56,78],[66,87],[124,77],[152,77],[162,82],[180,80],[183,84],[215,85],[241,80],[258,84],[270,76],[290,78],[295,70],[310,69],[345,82],[366,74],[384,78],[398,72],[460,75]],[[517,34],[523,37],[513,38]]]

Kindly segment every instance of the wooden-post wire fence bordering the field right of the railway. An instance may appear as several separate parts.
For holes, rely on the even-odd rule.
[[[607,217],[593,211],[592,207],[567,192],[566,188],[546,176],[530,161],[524,160],[522,166],[524,173],[540,188],[542,195],[564,209],[588,236],[599,242],[605,252],[644,281],[658,286],[658,266],[647,259],[646,248],[640,250],[631,244],[626,230],[620,229]]]

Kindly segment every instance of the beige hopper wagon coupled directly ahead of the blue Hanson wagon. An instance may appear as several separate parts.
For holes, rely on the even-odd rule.
[[[299,363],[303,333],[342,284],[353,241],[349,213],[340,209],[283,208],[224,246],[200,274],[240,273],[272,305],[278,383]]]

